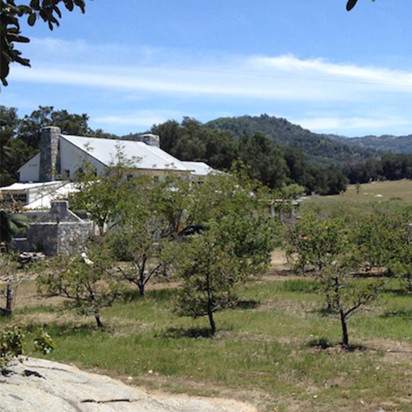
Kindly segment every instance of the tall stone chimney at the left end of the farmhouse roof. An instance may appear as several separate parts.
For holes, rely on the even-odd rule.
[[[53,181],[60,172],[58,158],[58,138],[60,128],[47,126],[41,129],[40,139],[40,167],[38,177],[41,182]]]

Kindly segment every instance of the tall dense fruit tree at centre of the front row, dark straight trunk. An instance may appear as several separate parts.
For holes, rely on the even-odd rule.
[[[218,180],[222,183],[219,192],[205,196],[209,198],[204,214],[209,218],[202,221],[205,229],[170,244],[176,273],[183,281],[175,312],[193,318],[207,316],[211,334],[216,333],[214,314],[236,303],[236,286],[268,267],[277,234],[269,215],[259,214],[262,204],[252,194],[251,185],[241,187],[234,176],[219,176]],[[202,187],[216,190],[213,182]]]

